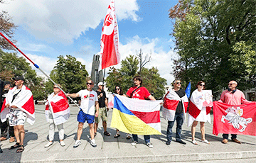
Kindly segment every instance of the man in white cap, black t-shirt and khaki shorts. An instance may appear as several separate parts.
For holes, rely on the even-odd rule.
[[[107,96],[105,91],[103,91],[103,83],[99,82],[97,86],[98,86],[98,89],[96,92],[97,92],[97,98],[99,100],[100,109],[99,109],[99,116],[95,117],[94,135],[95,136],[97,135],[97,127],[100,123],[100,118],[101,118],[103,129],[104,129],[104,135],[110,136],[110,133],[107,132],[107,111],[109,111]]]

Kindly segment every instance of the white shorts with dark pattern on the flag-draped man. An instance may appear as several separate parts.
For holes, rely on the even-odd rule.
[[[26,113],[19,109],[11,109],[9,110],[9,124],[10,126],[14,125],[24,125],[26,121]]]

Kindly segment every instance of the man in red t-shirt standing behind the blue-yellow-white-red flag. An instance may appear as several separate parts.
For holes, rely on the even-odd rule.
[[[154,99],[154,96],[152,96],[149,91],[142,86],[142,77],[136,76],[134,77],[134,85],[127,91],[127,96],[132,99],[150,99],[150,100],[156,100]],[[132,138],[134,142],[132,142],[132,146],[137,145],[138,143],[138,135],[132,134]],[[144,140],[146,142],[146,145],[148,147],[153,147],[153,145],[150,143],[150,135],[144,135]]]

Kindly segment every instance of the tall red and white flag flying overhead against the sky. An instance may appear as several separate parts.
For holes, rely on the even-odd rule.
[[[120,62],[118,44],[117,16],[115,14],[114,0],[111,0],[102,27],[99,71]]]

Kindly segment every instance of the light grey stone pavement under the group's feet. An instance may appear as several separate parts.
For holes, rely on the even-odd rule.
[[[102,122],[99,124],[97,136],[95,137],[97,147],[90,145],[89,127],[84,125],[81,141],[82,145],[73,148],[78,130],[76,120],[78,107],[71,106],[70,119],[64,123],[65,147],[61,147],[58,142],[58,132],[55,128],[55,138],[53,145],[45,148],[48,142],[48,123],[44,114],[44,105],[36,105],[36,122],[33,125],[25,124],[25,150],[16,153],[16,149],[8,150],[11,145],[9,140],[1,142],[4,151],[0,154],[0,162],[200,162],[222,159],[256,159],[256,137],[238,135],[238,140],[242,145],[229,140],[224,145],[220,141],[222,135],[212,134],[213,125],[206,123],[206,139],[210,142],[207,145],[201,142],[200,125],[196,128],[196,140],[198,145],[191,143],[191,129],[183,124],[182,136],[187,143],[181,145],[172,141],[167,146],[166,128],[167,121],[161,118],[162,135],[152,135],[151,142],[154,148],[149,148],[144,143],[144,138],[139,135],[139,143],[136,147],[131,145],[132,139],[127,140],[126,134],[121,132],[121,136],[114,138],[115,129],[110,128],[112,110],[108,112],[107,130],[112,134],[110,137],[103,135]],[[213,122],[213,117],[212,117]],[[176,133],[174,126],[174,137]],[[173,139],[175,140],[175,138]],[[227,160],[228,161],[228,160]]]

